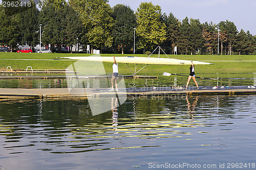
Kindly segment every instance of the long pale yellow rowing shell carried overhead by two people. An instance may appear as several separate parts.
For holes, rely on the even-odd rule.
[[[114,62],[113,57],[60,57],[73,60]],[[191,65],[189,60],[178,60],[174,58],[153,58],[153,57],[115,57],[117,63],[129,64],[157,64],[157,65]],[[193,61],[195,65],[213,64],[201,61]]]

